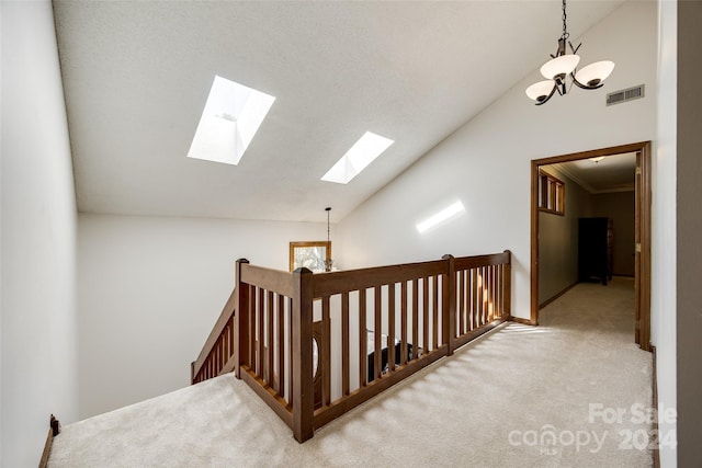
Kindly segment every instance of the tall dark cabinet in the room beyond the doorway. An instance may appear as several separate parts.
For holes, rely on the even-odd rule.
[[[612,279],[612,246],[614,230],[611,218],[578,220],[578,281]]]

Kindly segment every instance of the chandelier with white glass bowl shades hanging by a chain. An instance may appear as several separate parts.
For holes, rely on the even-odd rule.
[[[582,67],[576,71],[576,67],[580,61],[580,56],[576,55],[582,44],[573,47],[573,43],[568,41],[568,28],[566,26],[566,0],[563,0],[563,34],[558,39],[558,49],[556,55],[551,55],[551,60],[541,67],[541,75],[546,78],[526,88],[526,95],[536,101],[536,105],[541,105],[548,101],[551,96],[558,91],[564,95],[567,92],[566,78],[569,76],[573,83],[584,90],[596,90],[604,84],[604,80],[614,69],[614,62],[611,60],[596,61],[587,67]],[[566,54],[566,42],[570,47],[570,54]]]

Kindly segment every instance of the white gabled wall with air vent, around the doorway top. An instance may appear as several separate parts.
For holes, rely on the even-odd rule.
[[[641,83],[656,89],[656,21],[655,2],[631,1],[577,39],[584,64],[616,64],[603,89],[574,89],[535,106],[524,95],[540,80],[542,64],[534,64],[534,72],[342,220],[340,260],[351,267],[510,249],[512,311],[528,318],[530,161],[655,138],[655,96],[611,107],[604,96]],[[417,232],[418,221],[456,199],[463,215]]]

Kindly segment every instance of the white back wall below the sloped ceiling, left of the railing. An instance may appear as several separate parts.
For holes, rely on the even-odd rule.
[[[326,224],[78,220],[81,418],[188,386],[233,290],[235,261],[286,271],[290,241],[327,237]]]

